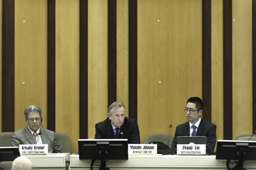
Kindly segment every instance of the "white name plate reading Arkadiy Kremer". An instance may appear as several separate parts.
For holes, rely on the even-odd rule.
[[[47,154],[48,144],[43,145],[20,145],[19,150],[22,154]]]

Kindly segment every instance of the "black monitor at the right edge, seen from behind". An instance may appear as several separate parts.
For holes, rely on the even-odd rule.
[[[256,141],[217,140],[216,159],[227,160],[227,166],[235,160],[242,170],[244,161],[256,161]]]

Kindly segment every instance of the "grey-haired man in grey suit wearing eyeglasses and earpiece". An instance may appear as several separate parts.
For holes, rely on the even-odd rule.
[[[43,119],[41,108],[39,106],[28,106],[24,115],[27,126],[12,134],[12,145],[48,144],[48,153],[61,153],[55,133],[47,129],[40,129]],[[39,132],[42,134],[38,135]]]

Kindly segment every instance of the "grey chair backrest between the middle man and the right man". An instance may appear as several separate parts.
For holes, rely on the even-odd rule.
[[[153,142],[153,141],[159,141],[159,142],[163,142],[164,144],[167,145],[168,136],[169,136],[169,134],[166,134],[166,133],[149,134],[149,135],[146,136],[144,144],[149,144],[150,142]],[[173,141],[173,137],[172,137],[172,135],[170,135],[170,140],[169,140],[169,147],[170,148],[171,148],[172,141]]]

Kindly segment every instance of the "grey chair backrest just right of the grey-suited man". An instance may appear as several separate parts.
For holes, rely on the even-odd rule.
[[[70,137],[64,133],[55,132],[62,153],[72,154],[72,145]]]

